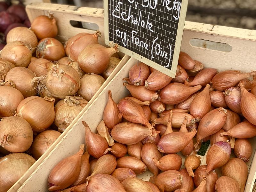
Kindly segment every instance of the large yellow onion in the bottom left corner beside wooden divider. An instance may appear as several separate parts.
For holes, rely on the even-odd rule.
[[[35,162],[32,156],[25,153],[13,153],[2,157],[0,159],[0,191],[7,192]]]

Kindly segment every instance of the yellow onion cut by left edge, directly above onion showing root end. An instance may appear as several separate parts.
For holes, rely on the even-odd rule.
[[[21,92],[10,86],[0,86],[0,116],[14,116],[18,105],[24,99]]]

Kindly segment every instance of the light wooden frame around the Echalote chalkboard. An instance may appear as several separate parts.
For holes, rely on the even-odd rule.
[[[120,0],[120,2],[121,1],[122,0]],[[162,2],[164,0],[158,0],[158,1]],[[168,0],[166,0],[166,1],[168,1]],[[147,59],[135,52],[132,52],[131,50],[123,47],[120,44],[118,45],[118,50],[120,52],[123,52],[123,53],[147,64],[148,66],[155,68],[155,69],[163,72],[164,74],[174,78],[176,75],[176,70],[177,70],[177,65],[178,65],[178,60],[179,60],[180,46],[181,46],[183,30],[184,30],[184,26],[185,26],[185,17],[186,17],[186,12],[187,12],[187,7],[188,7],[188,0],[180,0],[180,1],[181,1],[180,18],[179,18],[179,24],[178,24],[178,28],[177,28],[177,36],[176,36],[176,41],[175,41],[175,46],[174,46],[171,69],[165,68],[164,66],[161,66],[160,64],[155,63],[154,61],[152,61],[150,59]],[[105,33],[105,44],[106,45],[110,45],[111,43],[116,43],[116,42],[109,41],[109,17],[108,17],[109,15],[108,15],[108,13],[109,13],[108,0],[104,0],[104,25],[105,25],[104,33]]]

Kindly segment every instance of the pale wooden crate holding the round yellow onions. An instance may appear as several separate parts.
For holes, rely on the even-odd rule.
[[[65,43],[68,38],[82,32],[86,33],[94,33],[94,30],[88,30],[84,28],[74,28],[70,24],[70,20],[81,21],[86,23],[94,23],[99,26],[99,30],[102,31],[102,38],[100,39],[100,44],[104,44],[104,22],[103,22],[103,11],[92,9],[92,8],[78,8],[75,6],[68,5],[58,5],[58,4],[46,4],[46,3],[33,3],[27,5],[26,11],[28,13],[28,17],[30,21],[33,21],[39,15],[48,15],[49,12],[53,13],[53,15],[57,18],[57,26],[58,26],[58,35],[57,39],[59,39],[62,43]],[[105,44],[104,44],[105,45]],[[1,52],[0,52],[1,53]],[[93,100],[97,98],[100,92],[104,89],[104,87],[110,82],[110,80],[120,71],[120,69],[124,66],[124,64],[130,59],[128,55],[124,55],[119,52],[122,60],[116,66],[115,70],[108,77],[108,79],[104,82],[104,84],[100,87],[98,92],[92,97],[92,99],[88,102],[88,104],[84,107],[84,109],[80,112],[80,114],[76,117],[79,118],[84,111],[92,104]],[[12,186],[9,191],[17,191],[18,188],[28,179],[28,177],[35,171],[35,169],[43,162],[44,158],[52,151],[52,149],[60,142],[60,140],[64,137],[64,135],[68,132],[68,129],[71,128],[77,120],[75,119],[68,128],[60,135],[60,137],[51,145],[51,147],[33,164],[29,170]]]

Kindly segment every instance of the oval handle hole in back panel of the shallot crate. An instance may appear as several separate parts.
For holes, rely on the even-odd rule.
[[[233,49],[229,44],[204,39],[190,39],[189,43],[193,47],[200,47],[221,52],[231,52]]]

